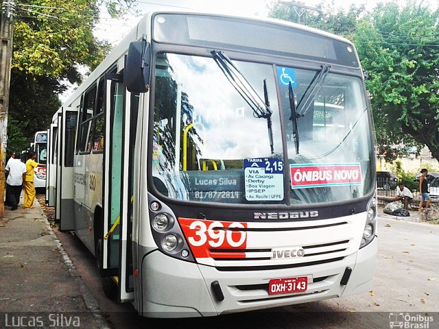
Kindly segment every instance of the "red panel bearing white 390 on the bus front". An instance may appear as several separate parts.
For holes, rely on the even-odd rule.
[[[209,258],[212,254],[215,254],[215,257],[246,257],[244,252],[215,253],[215,249],[246,249],[247,223],[190,218],[178,218],[178,222],[195,258]]]

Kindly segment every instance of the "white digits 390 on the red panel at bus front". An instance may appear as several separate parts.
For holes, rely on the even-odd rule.
[[[207,226],[206,224],[209,224]],[[239,247],[246,242],[247,233],[244,230],[230,230],[230,228],[243,228],[242,223],[223,223],[220,221],[205,222],[193,221],[189,229],[194,234],[188,240],[194,247],[200,247],[209,243],[216,247]]]

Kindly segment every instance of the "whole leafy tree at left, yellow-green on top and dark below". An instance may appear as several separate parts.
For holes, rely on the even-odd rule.
[[[133,1],[24,0],[16,8],[8,114],[8,151],[29,147],[60,107],[58,95],[80,83],[80,67],[91,70],[111,47],[96,40],[99,5],[112,16]]]

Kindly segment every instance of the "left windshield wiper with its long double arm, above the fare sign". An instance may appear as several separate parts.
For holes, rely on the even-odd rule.
[[[270,149],[274,154],[273,144],[273,129],[272,129],[272,110],[270,110],[270,101],[268,100],[267,82],[263,80],[263,93],[265,102],[259,97],[246,77],[237,69],[235,64],[222,51],[211,51],[213,60],[219,66],[222,73],[226,75],[227,80],[237,90],[239,95],[248,103],[248,106],[253,110],[254,117],[267,119],[268,126],[268,140],[270,142]]]

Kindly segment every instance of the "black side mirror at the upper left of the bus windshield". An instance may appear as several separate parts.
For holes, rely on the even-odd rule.
[[[146,93],[150,86],[151,47],[145,39],[131,42],[125,68],[125,84],[130,93]]]

